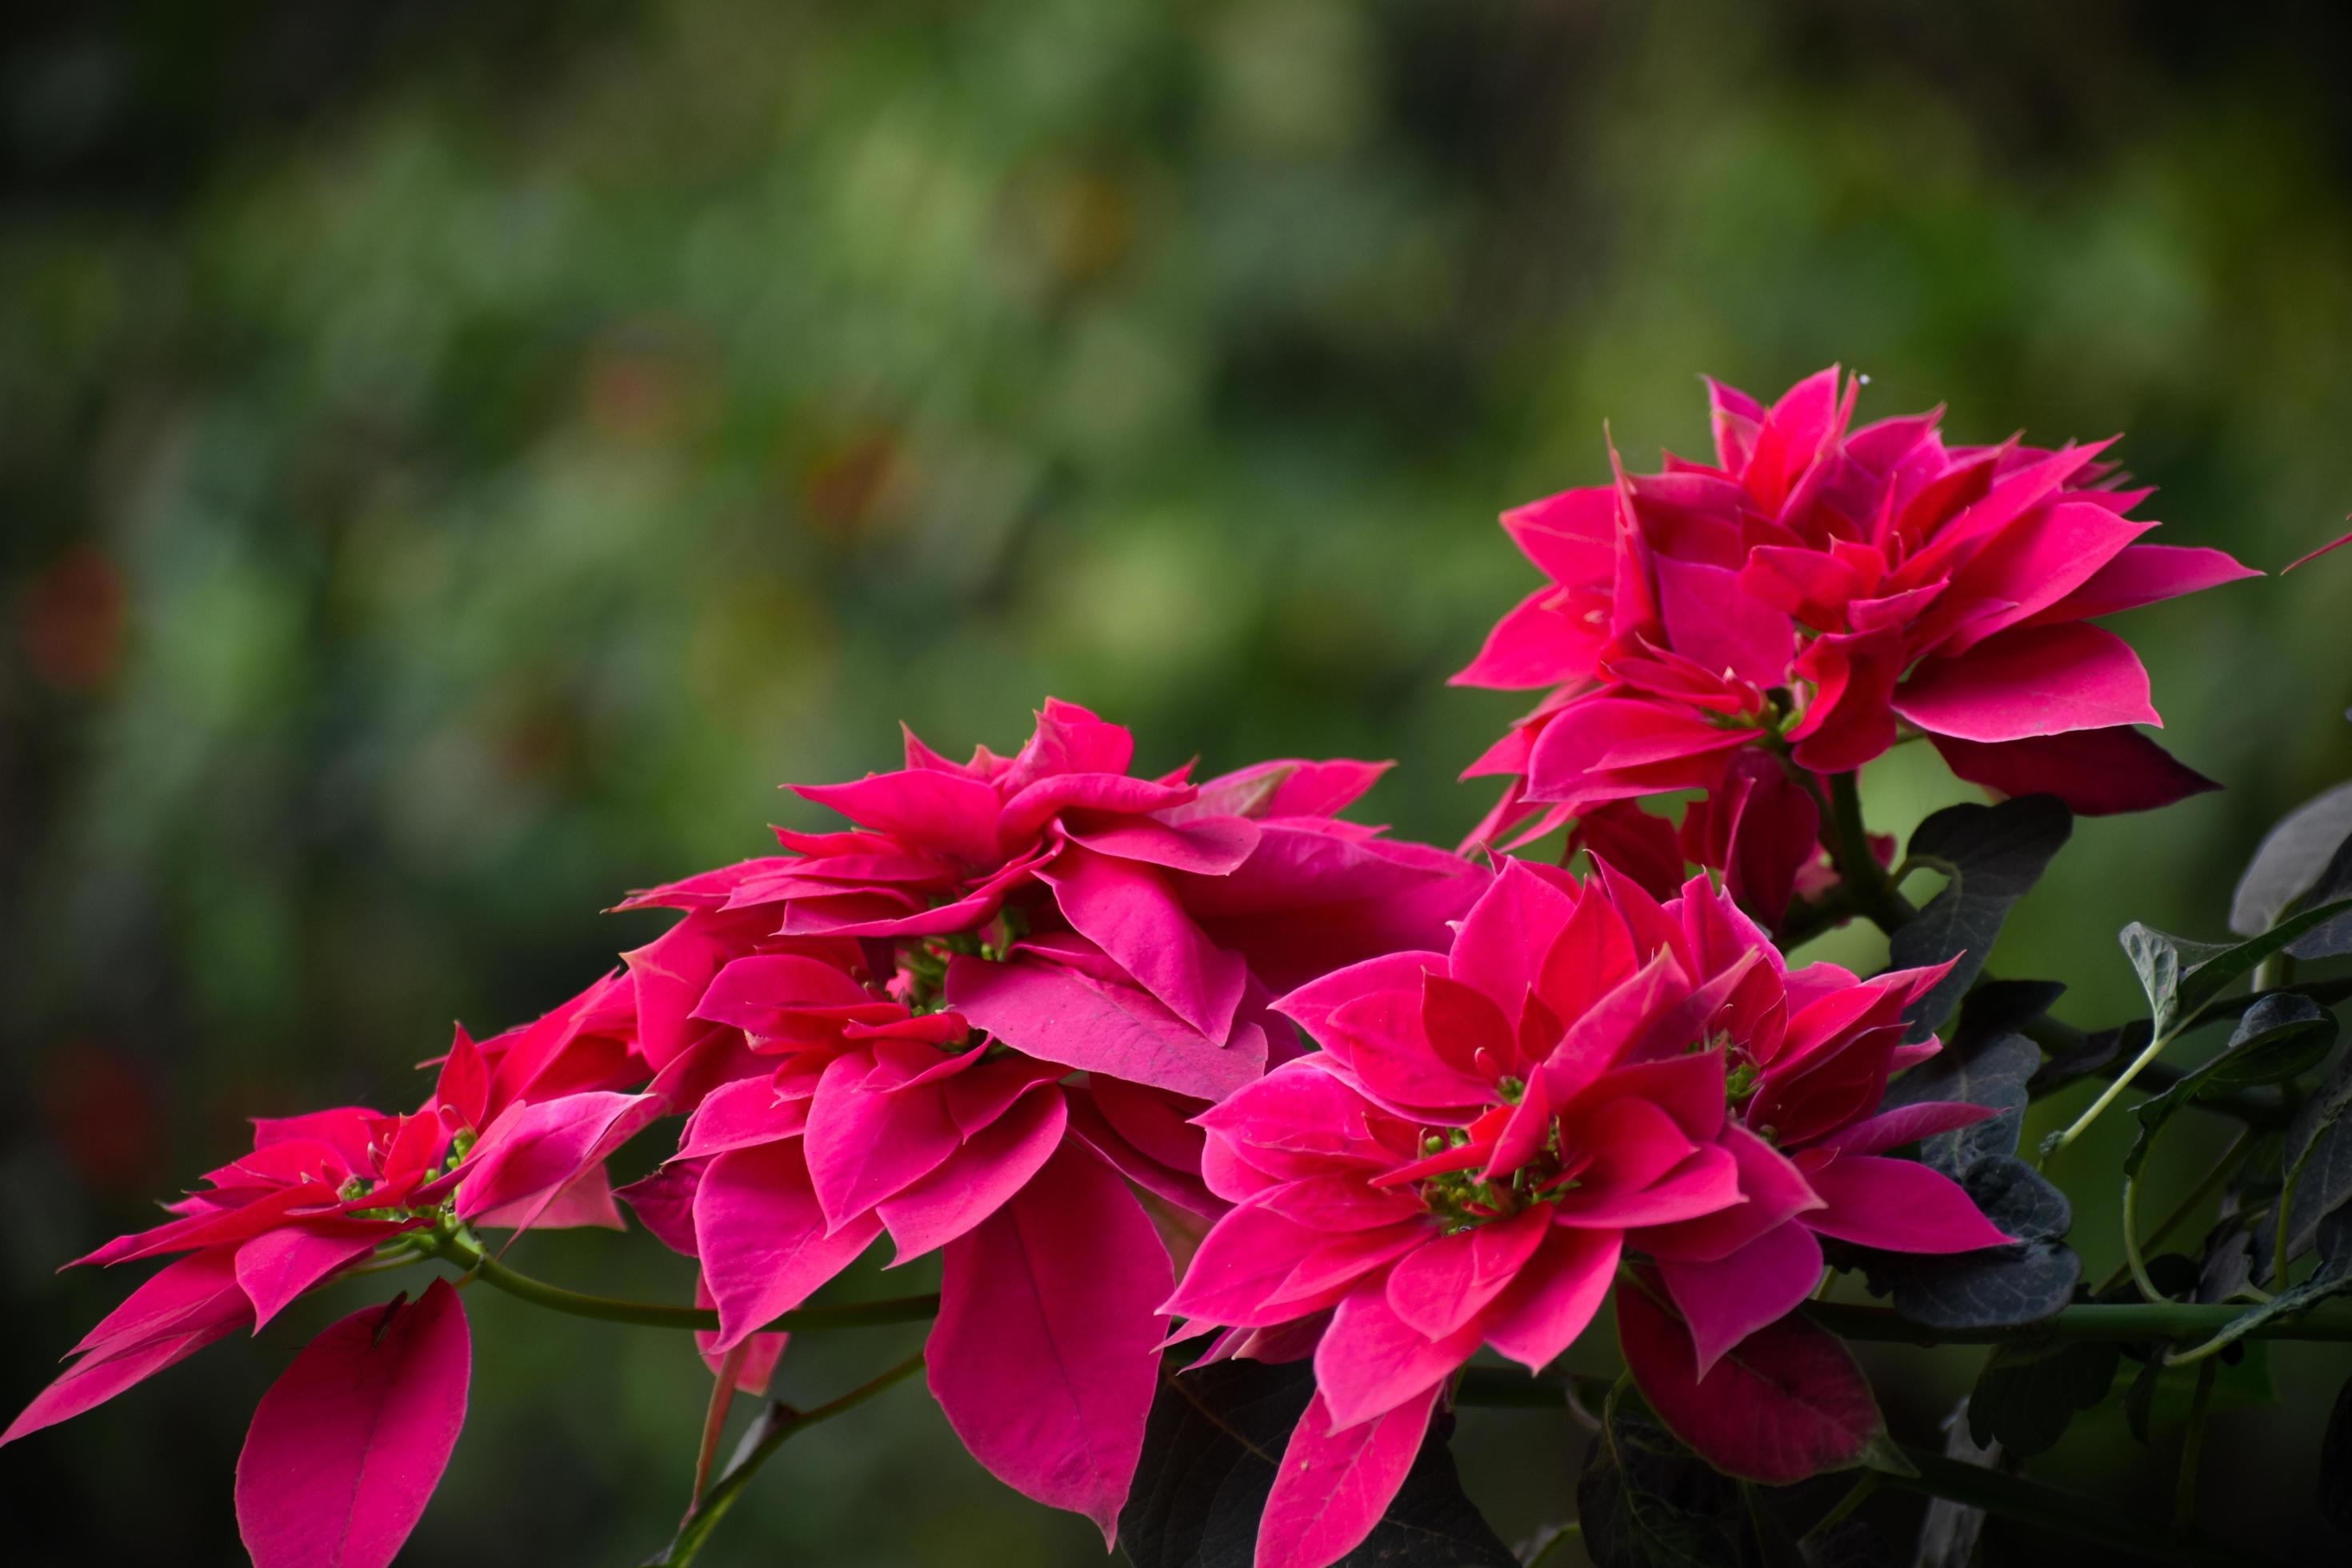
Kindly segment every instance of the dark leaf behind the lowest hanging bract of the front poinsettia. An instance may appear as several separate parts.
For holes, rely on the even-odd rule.
[[[1120,1512],[1134,1568],[1249,1568],[1275,1462],[1315,1394],[1308,1361],[1218,1361],[1160,1375],[1143,1460]],[[1388,1516],[1343,1568],[1510,1568],[1432,1427]]]

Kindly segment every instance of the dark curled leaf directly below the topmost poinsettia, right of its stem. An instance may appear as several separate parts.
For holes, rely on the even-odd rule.
[[[2042,879],[2074,830],[2053,795],[2023,795],[1997,806],[1945,806],[1912,832],[1910,856],[1938,863],[1950,884],[1886,943],[1886,961],[1919,969],[1959,959],[1936,990],[1912,1004],[1910,1037],[1926,1039],[1952,1013],[2002,936],[2009,907]]]

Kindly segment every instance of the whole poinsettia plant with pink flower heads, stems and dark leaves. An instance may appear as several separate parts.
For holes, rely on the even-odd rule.
[[[459,1030],[414,1110],[256,1121],[162,1225],[82,1258],[167,1262],[0,1441],[395,1276],[254,1413],[235,1505],[261,1568],[393,1561],[461,1436],[475,1291],[696,1335],[708,1415],[661,1563],[795,1432],[915,1375],[974,1460],[1138,1568],[1569,1540],[1858,1561],[1877,1488],[1943,1500],[1943,1563],[1987,1514],[2246,1561],[2194,1507],[2218,1368],[2352,1340],[2328,1305],[2352,1291],[2352,785],[2263,844],[2232,940],[2122,931],[2145,1018],[2079,1030],[2063,985],[1987,959],[2077,813],[2216,788],[2140,731],[2147,675],[2096,623],[2258,574],[2143,543],[2150,491],[2110,442],[1856,425],[1835,369],[1710,397],[1712,461],[1611,451],[1606,484],[1505,515],[1548,581],[1458,679],[1543,696],[1472,764],[1505,788],[1458,849],[1345,816],[1381,764],[1143,776],[1127,729],[1061,701],[1011,755],[908,733],[903,766],[797,790],[842,825],[630,896],[673,924],[527,1025]],[[1990,799],[1896,844],[1860,769],[1912,741]],[[1915,905],[1915,877],[1940,889]],[[1858,919],[1882,973],[1802,957]],[[2082,1110],[2020,1147],[2060,1091]],[[2124,1267],[2093,1284],[2042,1166],[2107,1114],[2136,1140]],[[2239,1135],[2152,1218],[2183,1114]],[[623,1206],[691,1260],[691,1300],[506,1260]],[[936,1291],[840,1295],[884,1251]],[[764,1403],[717,1465],[781,1356],[906,1321],[920,1354]],[[1947,1443],[1889,1429],[1853,1342],[1985,1347]],[[2169,1385],[2173,1523],[2020,1474],[2107,1399],[2145,1436]],[[1573,1486],[1562,1458],[1564,1528],[1515,1554],[1446,1446],[1465,1410],[1541,1403],[1590,1458]],[[2347,1455],[2352,1385],[2321,1455],[2338,1523]]]

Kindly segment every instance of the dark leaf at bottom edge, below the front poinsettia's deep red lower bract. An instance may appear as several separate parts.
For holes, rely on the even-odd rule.
[[[1613,1394],[1585,1472],[1576,1516],[1597,1568],[1745,1568],[1755,1542],[1738,1481],[1684,1448],[1642,1401]]]

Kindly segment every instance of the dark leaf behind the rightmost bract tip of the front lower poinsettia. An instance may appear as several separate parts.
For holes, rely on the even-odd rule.
[[[2020,1241],[1976,1253],[1863,1253],[1870,1288],[1926,1328],[2039,1324],[2074,1300],[2082,1260],[2065,1246],[2072,1208],[2023,1159],[1994,1154],[1962,1175],[1985,1218]]]

